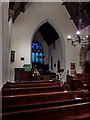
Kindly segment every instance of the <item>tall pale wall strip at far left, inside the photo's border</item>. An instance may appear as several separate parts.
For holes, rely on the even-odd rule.
[[[2,4],[2,84],[9,79],[9,23],[8,23],[8,3]]]

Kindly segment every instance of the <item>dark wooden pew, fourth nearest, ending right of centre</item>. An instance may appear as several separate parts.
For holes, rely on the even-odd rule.
[[[69,91],[68,85],[63,86],[44,86],[44,87],[30,87],[30,88],[2,88],[2,96],[7,95],[19,95],[19,94],[34,94],[34,93],[47,93],[47,92],[59,92]]]

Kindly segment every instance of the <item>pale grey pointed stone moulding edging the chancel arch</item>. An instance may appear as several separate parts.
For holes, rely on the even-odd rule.
[[[42,26],[44,23],[48,22],[57,32],[59,35],[59,40],[62,46],[62,62],[61,62],[61,68],[64,68],[64,80],[66,81],[66,47],[65,47],[65,40],[63,38],[63,35],[60,31],[60,29],[57,27],[57,25],[51,20],[51,19],[45,19],[43,20],[34,30],[32,37],[31,37],[31,43],[33,41],[33,37],[36,33],[36,31],[39,29],[40,26]]]

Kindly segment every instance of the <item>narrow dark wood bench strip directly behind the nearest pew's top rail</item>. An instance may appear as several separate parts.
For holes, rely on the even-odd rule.
[[[66,100],[58,100],[58,101],[49,101],[49,102],[39,102],[39,103],[29,103],[29,104],[22,104],[22,105],[13,105],[13,106],[4,106],[2,108],[3,112],[10,112],[10,111],[19,111],[19,110],[26,110],[26,109],[37,109],[37,108],[46,108],[51,106],[62,106],[62,105],[70,105],[76,103],[83,103],[89,100],[81,98],[81,99],[66,99]]]

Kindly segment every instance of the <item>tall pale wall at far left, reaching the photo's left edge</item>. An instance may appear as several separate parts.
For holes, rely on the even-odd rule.
[[[8,3],[0,2],[0,18],[0,86],[2,86],[9,78]]]

